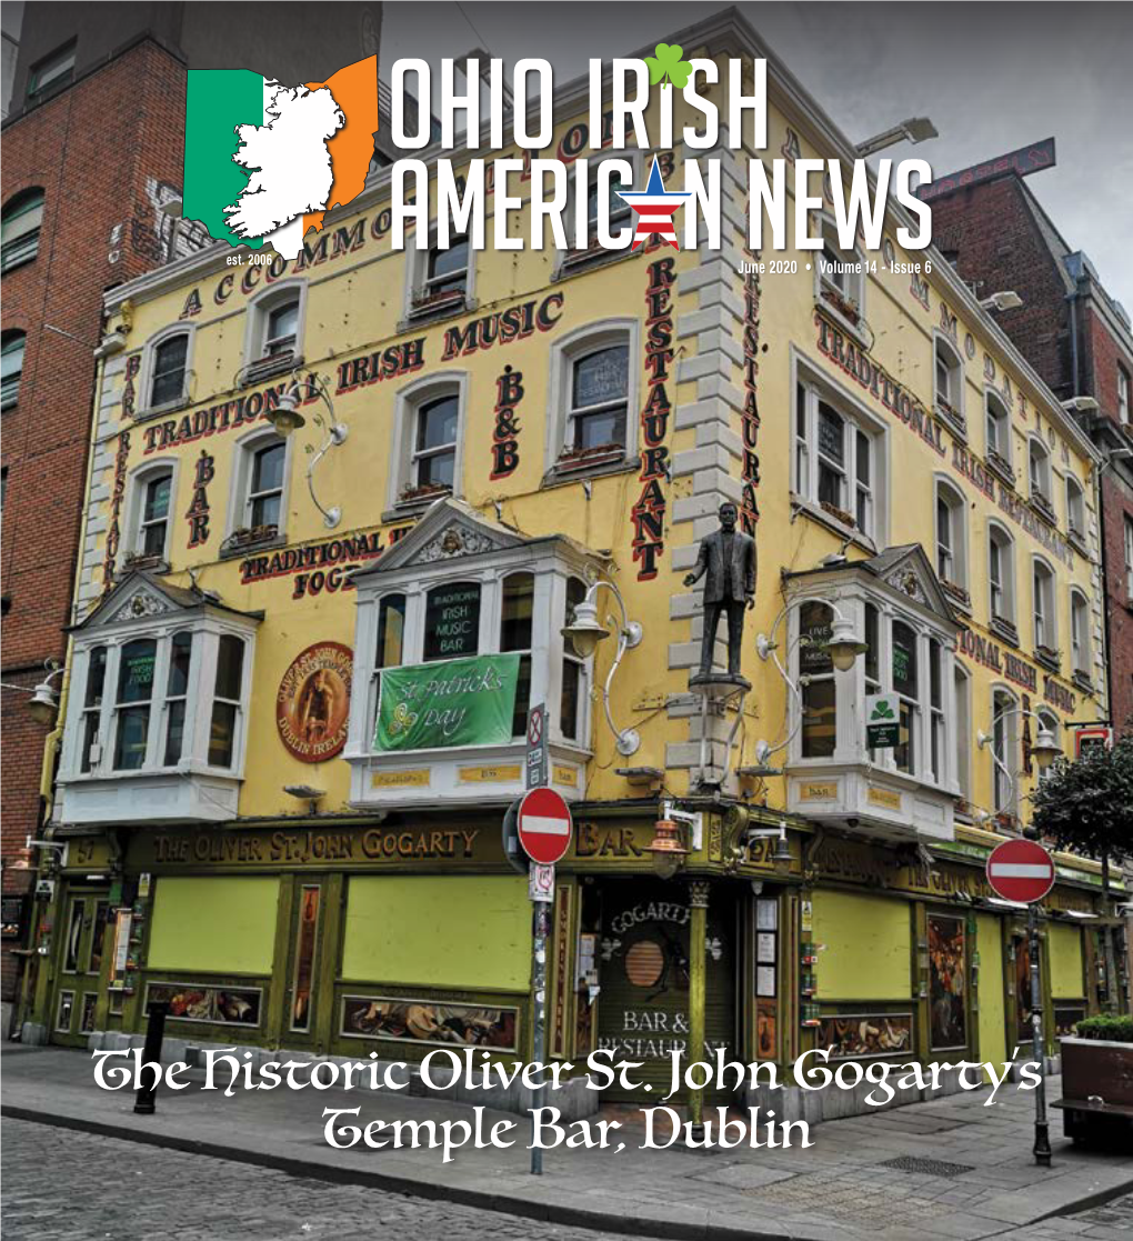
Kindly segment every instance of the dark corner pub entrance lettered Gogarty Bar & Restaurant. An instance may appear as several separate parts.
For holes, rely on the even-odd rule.
[[[711,1059],[717,1047],[733,1057],[736,1042],[735,939],[736,903],[714,886],[709,905],[705,953],[705,1049],[694,1059]],[[715,907],[714,907],[715,905]],[[602,885],[598,934],[598,1047],[614,1061],[643,1067],[630,1080],[653,1086],[649,1095],[617,1086],[611,1101],[644,1103],[665,1095],[673,1073],[671,1054],[687,1062],[689,1047],[689,892],[685,884],[647,879]]]

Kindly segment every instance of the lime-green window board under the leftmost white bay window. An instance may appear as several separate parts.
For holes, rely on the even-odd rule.
[[[274,877],[163,876],[146,968],[271,974],[278,901]]]

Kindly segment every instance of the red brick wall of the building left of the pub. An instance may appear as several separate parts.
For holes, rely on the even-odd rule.
[[[154,182],[181,184],[182,65],[145,41],[4,129],[2,201],[45,191],[34,262],[2,278],[4,330],[27,334],[19,403],[2,414],[2,675],[35,685],[62,659],[86,485],[102,294],[160,259]],[[78,338],[50,331],[46,324]],[[56,681],[57,684],[57,681]],[[5,690],[0,851],[38,825],[46,730]],[[5,877],[17,891],[20,877]],[[4,954],[2,994],[14,968]]]

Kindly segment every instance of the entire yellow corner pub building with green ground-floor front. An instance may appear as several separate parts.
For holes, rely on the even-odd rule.
[[[675,37],[721,81],[768,61],[767,149],[695,153],[719,249],[400,251],[385,166],[294,261],[216,244],[107,294],[26,1039],[127,1046],[164,1000],[179,1051],[530,1056],[531,761],[575,820],[551,1056],[1026,1045],[984,862],[1040,740],[1107,717],[1099,458],[900,208],[840,251],[828,184],[823,251],[750,251],[748,159],[853,145],[735,12]],[[584,82],[555,123],[577,210],[606,158],[644,185]],[[690,685],[726,501],[755,608],[740,676]],[[1108,912],[1056,862],[1051,1052]]]

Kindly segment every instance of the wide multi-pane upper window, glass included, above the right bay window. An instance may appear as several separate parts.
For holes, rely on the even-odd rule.
[[[841,525],[875,537],[880,433],[807,382],[795,387],[794,490]]]

